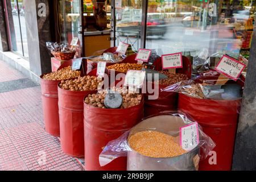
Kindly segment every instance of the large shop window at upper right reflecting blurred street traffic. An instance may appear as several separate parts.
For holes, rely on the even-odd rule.
[[[249,57],[255,1],[148,1],[146,48],[165,53],[203,48]]]

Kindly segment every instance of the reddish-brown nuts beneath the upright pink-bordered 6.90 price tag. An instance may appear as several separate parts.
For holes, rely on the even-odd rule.
[[[169,73],[168,71],[160,71],[160,73],[168,76],[168,78],[159,80],[159,85],[173,85],[177,82],[188,80],[187,75],[181,73]]]

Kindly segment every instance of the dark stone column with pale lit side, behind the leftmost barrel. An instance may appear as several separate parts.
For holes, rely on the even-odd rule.
[[[51,0],[23,0],[30,69],[38,76],[51,72],[51,53],[46,47],[46,42],[52,39],[49,1]],[[42,14],[44,8],[45,15]]]

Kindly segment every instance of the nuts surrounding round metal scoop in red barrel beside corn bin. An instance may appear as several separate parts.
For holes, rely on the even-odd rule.
[[[129,93],[127,88],[112,88],[113,91],[122,95],[123,103],[120,109],[126,109],[141,104],[142,94]],[[105,109],[104,100],[108,90],[100,90],[97,94],[89,94],[85,98],[85,104]]]

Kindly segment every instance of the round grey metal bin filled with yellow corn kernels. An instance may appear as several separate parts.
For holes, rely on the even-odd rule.
[[[179,146],[178,131],[184,125],[186,124],[181,117],[158,115],[147,118],[133,127],[128,137],[128,144],[131,150],[127,152],[127,170],[195,171],[197,169],[196,158],[200,154],[200,147],[196,146],[193,150],[186,152]],[[140,137],[143,137],[143,139]],[[152,140],[152,138],[155,140]],[[152,146],[152,150],[155,151],[138,151],[148,149],[148,147],[139,147],[144,142],[152,142],[147,143],[147,146]],[[167,149],[163,150],[162,148],[156,147],[167,146],[166,143],[161,144],[161,142],[168,142],[173,147],[170,151],[174,154],[171,154]],[[152,156],[156,153],[159,157]]]

